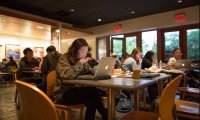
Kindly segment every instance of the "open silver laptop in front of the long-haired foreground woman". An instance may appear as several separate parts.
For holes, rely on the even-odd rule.
[[[112,75],[112,70],[116,59],[112,57],[103,57],[98,65],[98,68],[94,75],[80,75],[77,79],[81,80],[101,80],[101,79],[110,79]]]

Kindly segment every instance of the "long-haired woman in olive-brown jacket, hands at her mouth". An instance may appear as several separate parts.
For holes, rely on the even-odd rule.
[[[85,39],[76,39],[69,47],[68,52],[63,54],[57,65],[58,77],[63,80],[76,79],[78,75],[84,75],[91,73],[90,65],[87,58],[88,43]],[[81,87],[75,85],[60,86],[63,94],[62,100],[59,104],[73,105],[73,104],[85,104],[86,113],[85,120],[94,120],[96,109],[102,116],[103,120],[108,119],[107,109],[104,108],[99,95],[99,90],[95,87]]]

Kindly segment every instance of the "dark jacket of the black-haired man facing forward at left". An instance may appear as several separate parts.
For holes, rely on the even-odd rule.
[[[17,78],[34,76],[32,73],[23,73],[23,71],[32,71],[34,67],[39,67],[39,61],[37,59],[33,58],[31,61],[28,61],[26,57],[21,58],[17,71]]]

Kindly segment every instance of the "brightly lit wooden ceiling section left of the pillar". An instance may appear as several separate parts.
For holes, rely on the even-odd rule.
[[[51,26],[0,15],[0,34],[31,39],[50,40]]]

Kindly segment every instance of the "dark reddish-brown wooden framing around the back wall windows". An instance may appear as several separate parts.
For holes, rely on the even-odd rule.
[[[164,33],[179,31],[179,46],[183,53],[182,57],[183,57],[183,59],[187,59],[187,30],[189,30],[189,29],[200,29],[200,23],[125,33],[124,41],[123,41],[123,53],[126,52],[126,41],[125,41],[126,37],[136,36],[137,47],[142,49],[142,32],[157,30],[157,54],[158,54],[157,57],[158,57],[158,60],[164,61],[164,59],[165,59]],[[104,36],[107,38],[107,44],[106,44],[107,56],[110,56],[110,52],[111,52],[110,51],[111,50],[110,49],[110,36]],[[102,38],[102,37],[100,37],[100,38]],[[97,39],[97,45],[98,45],[98,39]],[[96,48],[97,48],[97,55],[98,55],[98,47],[96,47]],[[193,61],[193,62],[198,62],[198,61]]]

